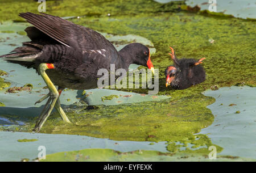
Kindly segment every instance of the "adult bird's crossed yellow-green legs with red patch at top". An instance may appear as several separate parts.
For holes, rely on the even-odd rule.
[[[47,103],[44,106],[43,111],[40,113],[38,121],[36,122],[36,125],[34,128],[35,132],[39,132],[39,130],[42,128],[43,124],[46,122],[47,118],[51,114],[53,107],[56,107],[57,111],[61,114],[61,117],[63,117],[64,121],[68,120],[68,117],[65,115],[63,109],[61,109],[60,104],[57,104],[57,106],[55,106],[59,98],[59,92],[57,91],[56,87],[53,85],[51,79],[49,79],[48,75],[46,74],[47,69],[53,69],[53,68],[54,68],[53,64],[45,64],[45,63],[40,64],[38,67],[39,74],[42,76],[42,78],[44,79],[44,82],[46,82],[46,85],[49,88],[49,94],[44,96],[42,99],[38,100],[38,102],[36,103],[40,103],[44,99],[47,99],[48,97],[49,99],[47,100]],[[69,120],[68,122],[70,123]]]

